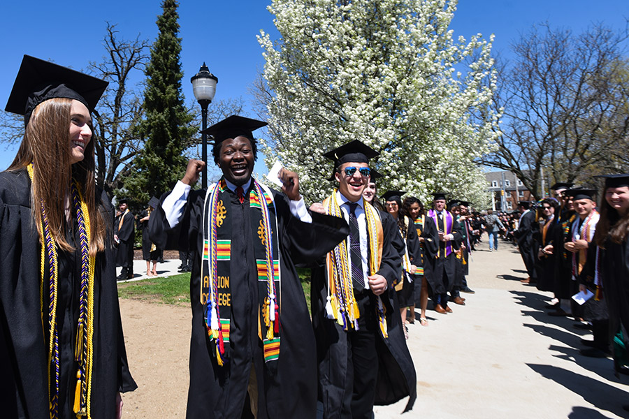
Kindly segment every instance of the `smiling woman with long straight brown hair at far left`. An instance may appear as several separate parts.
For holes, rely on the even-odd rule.
[[[129,374],[113,208],[90,110],[107,82],[24,56],[6,106],[24,139],[0,173],[0,401],[11,418],[120,418]]]

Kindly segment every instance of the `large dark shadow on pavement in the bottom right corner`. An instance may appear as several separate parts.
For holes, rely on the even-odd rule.
[[[527,364],[530,369],[541,374],[549,380],[563,385],[568,390],[583,397],[586,402],[593,404],[598,409],[610,411],[618,416],[626,417],[627,413],[622,405],[629,402],[629,394],[619,390],[612,385],[602,383],[581,374],[568,371],[567,369],[553,367],[552,365]],[[605,416],[594,416],[593,411],[588,408],[574,406],[569,418],[605,418]],[[581,410],[582,409],[582,410]],[[574,416],[587,413],[586,416]]]

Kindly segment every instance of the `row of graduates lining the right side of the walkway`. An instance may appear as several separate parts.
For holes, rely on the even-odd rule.
[[[575,328],[592,331],[579,353],[614,355],[616,372],[626,374],[629,175],[601,177],[600,191],[557,183],[553,197],[519,203],[512,236],[528,272],[522,282],[553,293],[549,316],[573,317]]]

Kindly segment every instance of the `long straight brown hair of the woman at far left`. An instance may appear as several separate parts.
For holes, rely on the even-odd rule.
[[[84,159],[71,164],[69,127],[72,99],[52,98],[35,108],[24,130],[24,139],[17,155],[7,170],[23,170],[33,163],[31,213],[36,226],[41,225],[43,203],[50,233],[57,245],[66,251],[74,248],[66,240],[66,199],[71,200],[71,182],[78,182],[91,225],[89,253],[95,255],[105,249],[107,226],[99,211],[100,197],[96,196],[94,178],[94,140],[87,143]],[[89,128],[94,132],[92,123]],[[68,198],[66,198],[68,197]],[[71,203],[71,212],[73,204]],[[43,240],[43,237],[41,237]]]

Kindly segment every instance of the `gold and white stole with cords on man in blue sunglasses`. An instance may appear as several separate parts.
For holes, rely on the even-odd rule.
[[[326,214],[343,217],[343,212],[336,200],[336,189],[332,195],[323,202]],[[367,223],[367,240],[369,247],[368,266],[369,274],[378,272],[382,261],[382,246],[384,234],[382,233],[382,221],[377,210],[363,199],[365,218]],[[326,256],[326,279],[328,283],[328,297],[326,302],[326,316],[335,319],[343,330],[354,328],[359,330],[358,319],[361,316],[358,304],[354,298],[354,286],[352,284],[352,269],[349,262],[349,235],[346,240],[340,242]],[[382,298],[377,295],[377,316],[382,337],[389,337],[386,328],[386,311]]]

